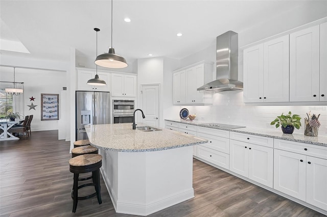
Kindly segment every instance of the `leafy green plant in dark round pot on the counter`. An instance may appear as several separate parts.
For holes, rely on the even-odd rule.
[[[279,126],[282,126],[283,133],[289,133],[292,134],[294,131],[294,127],[296,129],[300,129],[301,126],[301,117],[297,114],[291,113],[291,111],[288,112],[288,114],[282,113],[281,116],[277,116],[276,119],[274,119],[270,125],[275,125],[276,128]]]

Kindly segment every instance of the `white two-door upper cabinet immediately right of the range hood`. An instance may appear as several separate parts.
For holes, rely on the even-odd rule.
[[[289,36],[243,51],[244,102],[289,101]]]

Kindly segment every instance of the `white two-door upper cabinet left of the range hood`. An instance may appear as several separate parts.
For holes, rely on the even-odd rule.
[[[176,70],[173,75],[173,103],[212,104],[212,94],[197,91],[197,88],[212,80],[213,67],[209,63]]]

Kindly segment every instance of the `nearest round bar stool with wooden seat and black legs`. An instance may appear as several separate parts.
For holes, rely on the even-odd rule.
[[[69,171],[74,173],[74,185],[72,191],[72,198],[74,201],[73,212],[76,212],[78,200],[85,200],[97,195],[98,202],[101,204],[100,167],[102,166],[102,156],[99,154],[84,154],[73,157],[68,162]],[[88,172],[92,172],[92,183],[78,186],[79,174]],[[78,189],[86,186],[95,186],[96,192],[88,196],[78,197]]]

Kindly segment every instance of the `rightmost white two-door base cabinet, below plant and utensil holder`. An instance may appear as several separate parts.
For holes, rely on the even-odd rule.
[[[327,210],[327,147],[281,139],[274,143],[274,189]]]

